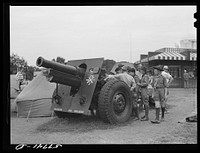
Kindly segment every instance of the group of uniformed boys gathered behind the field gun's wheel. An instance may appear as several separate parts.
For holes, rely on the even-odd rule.
[[[151,122],[159,124],[160,121],[163,121],[164,114],[167,112],[168,87],[173,80],[169,74],[168,66],[154,66],[152,72],[141,64],[138,65],[137,70],[120,64],[115,69],[115,72],[116,74],[109,75],[106,79],[116,78],[124,81],[130,87],[133,98],[132,115],[134,115],[134,120],[149,120],[149,100],[153,99],[155,101],[156,118]],[[141,99],[144,108],[144,116],[141,118],[139,114],[141,105],[139,99]]]

